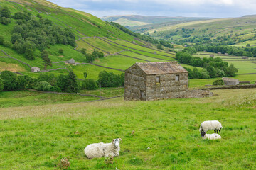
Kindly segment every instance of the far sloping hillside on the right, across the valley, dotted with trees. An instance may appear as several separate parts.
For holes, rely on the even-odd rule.
[[[218,18],[204,21],[183,23],[165,23],[157,26],[132,28],[135,32],[149,34],[154,38],[168,40],[179,44],[199,42],[196,38],[207,38],[215,42],[233,45],[255,40],[256,16],[240,18]]]

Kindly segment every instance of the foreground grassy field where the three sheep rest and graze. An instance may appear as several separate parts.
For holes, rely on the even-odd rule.
[[[60,169],[64,157],[69,169],[256,169],[256,90],[213,93],[0,108],[1,169]],[[202,140],[203,120],[222,123],[221,140]],[[86,145],[117,137],[123,143],[113,164],[85,157]]]

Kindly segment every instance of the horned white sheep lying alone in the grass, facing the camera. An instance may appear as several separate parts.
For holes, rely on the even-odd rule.
[[[85,155],[92,159],[95,157],[116,157],[119,156],[121,138],[112,140],[111,143],[95,143],[85,147]]]

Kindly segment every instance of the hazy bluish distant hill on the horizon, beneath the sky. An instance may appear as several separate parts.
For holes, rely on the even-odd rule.
[[[150,24],[168,23],[168,22],[181,22],[181,21],[197,21],[206,20],[209,18],[196,18],[196,17],[169,17],[169,16],[105,16],[102,17],[104,21],[113,21],[126,27],[145,26]],[[134,29],[134,28],[133,28]]]

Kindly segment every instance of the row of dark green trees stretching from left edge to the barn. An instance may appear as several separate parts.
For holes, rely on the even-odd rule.
[[[57,91],[57,92],[78,92],[80,89],[98,89],[99,87],[124,86],[124,73],[114,74],[102,71],[99,78],[87,79],[87,72],[84,73],[85,79],[78,81],[73,71],[68,74],[40,74],[38,78],[28,75],[17,76],[10,71],[0,73],[0,91],[17,91],[23,89],[36,89],[38,91]]]

